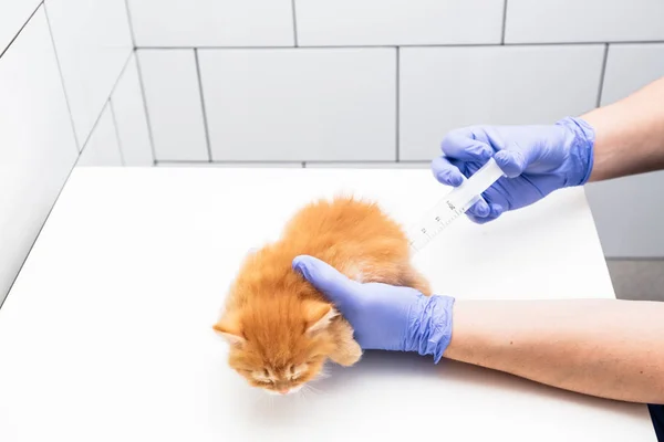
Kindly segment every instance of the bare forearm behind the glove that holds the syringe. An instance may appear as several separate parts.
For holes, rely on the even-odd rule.
[[[581,118],[595,129],[591,181],[664,169],[664,77]]]

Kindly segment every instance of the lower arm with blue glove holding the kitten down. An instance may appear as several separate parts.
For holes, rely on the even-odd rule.
[[[664,303],[443,297],[427,309],[436,296],[359,284],[310,256],[293,266],[338,306],[363,348],[442,355],[585,394],[664,403]]]

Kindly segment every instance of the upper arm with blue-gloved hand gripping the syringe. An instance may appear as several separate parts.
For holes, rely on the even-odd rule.
[[[458,186],[490,157],[499,179],[468,215],[495,220],[561,188],[664,168],[664,78],[614,104],[552,125],[471,126],[452,130],[434,176]]]

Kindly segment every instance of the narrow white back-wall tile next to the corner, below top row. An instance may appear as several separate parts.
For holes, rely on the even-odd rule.
[[[157,160],[208,160],[194,50],[141,50]]]

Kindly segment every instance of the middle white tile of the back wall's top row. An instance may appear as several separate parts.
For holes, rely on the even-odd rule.
[[[295,0],[300,45],[500,43],[504,0]]]

